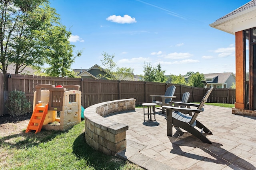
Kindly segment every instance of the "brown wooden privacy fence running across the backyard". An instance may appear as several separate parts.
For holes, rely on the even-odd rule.
[[[174,101],[180,101],[182,98],[182,94],[184,92],[189,92],[189,102],[200,102],[204,94],[208,90],[204,88],[183,86],[180,84],[166,84],[142,81],[94,80],[82,78],[31,76],[20,74],[7,74],[5,77],[2,77],[6,78],[7,92],[10,92],[12,90],[19,90],[25,92],[26,98],[32,104],[32,106],[34,91],[36,91],[35,86],[38,84],[52,84],[55,86],[80,85],[80,91],[82,92],[82,106],[85,108],[101,102],[127,98],[135,98],[136,105],[145,102],[152,102],[150,95],[163,95],[166,89],[172,85],[176,86],[176,90],[174,93],[176,99],[174,99]],[[3,81],[3,78],[1,79],[0,76],[1,81]],[[1,99],[3,98],[2,91],[3,90],[0,91]],[[234,104],[236,98],[235,92],[235,89],[214,89],[208,99],[208,102]],[[2,104],[1,99],[0,104]],[[32,107],[30,108],[30,111],[32,111]],[[0,112],[0,115],[1,113],[2,112]]]

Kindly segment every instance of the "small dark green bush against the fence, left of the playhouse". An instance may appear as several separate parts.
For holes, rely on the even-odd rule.
[[[27,112],[26,109],[30,107],[30,102],[26,100],[25,93],[22,91],[11,91],[8,94],[8,101],[8,113],[12,116],[24,115]]]

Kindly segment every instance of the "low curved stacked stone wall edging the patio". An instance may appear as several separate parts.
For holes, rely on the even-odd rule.
[[[126,149],[128,125],[106,117],[108,114],[135,110],[136,99],[114,100],[90,106],[84,110],[86,143],[108,155]]]

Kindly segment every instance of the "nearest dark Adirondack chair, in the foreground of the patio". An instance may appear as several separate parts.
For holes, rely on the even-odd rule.
[[[182,103],[181,105],[186,105],[188,108],[184,107],[172,107],[172,106],[163,106],[166,109],[167,115],[167,135],[172,136],[172,127],[180,127],[204,143],[211,143],[209,139],[207,139],[202,132],[212,134],[212,132],[205,127],[202,123],[196,120],[198,114],[204,111],[203,106],[205,102],[207,102],[210,93],[212,92],[212,88],[206,92],[205,96],[202,98],[200,104],[193,104],[193,103]],[[190,108],[190,106],[196,106],[196,109]],[[194,113],[194,114],[192,114]],[[198,127],[201,131],[198,131],[194,126]]]

